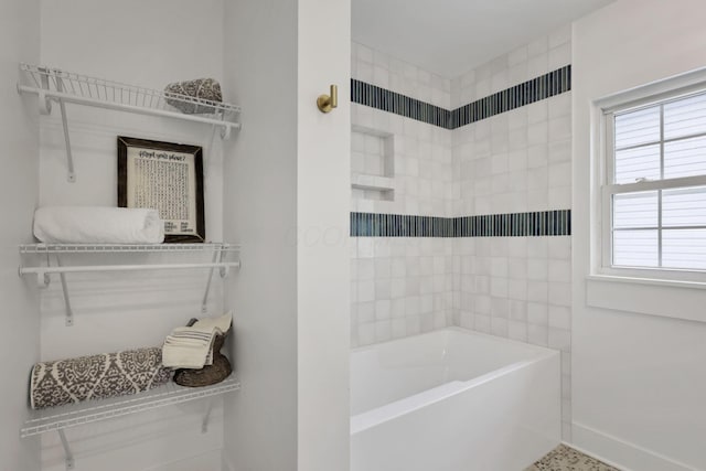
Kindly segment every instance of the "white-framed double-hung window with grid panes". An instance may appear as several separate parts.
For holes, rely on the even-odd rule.
[[[706,89],[603,114],[605,271],[706,280]]]

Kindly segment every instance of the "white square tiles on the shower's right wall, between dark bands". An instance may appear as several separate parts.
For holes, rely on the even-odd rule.
[[[571,62],[570,26],[452,81],[454,106]],[[453,131],[457,214],[571,207],[571,93]],[[456,238],[457,325],[561,351],[563,436],[569,440],[571,242],[569,236]]]

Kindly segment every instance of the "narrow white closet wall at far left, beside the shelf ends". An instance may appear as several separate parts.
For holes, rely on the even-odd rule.
[[[28,381],[39,360],[39,298],[32,279],[18,278],[18,245],[32,240],[38,194],[39,127],[35,100],[17,93],[18,63],[39,60],[40,3],[11,0],[0,4],[0,352],[4,381],[0,386],[0,470],[39,471],[39,440],[20,439],[26,419]]]

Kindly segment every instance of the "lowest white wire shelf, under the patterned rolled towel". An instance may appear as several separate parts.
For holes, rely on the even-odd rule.
[[[71,406],[36,410],[33,411],[34,417],[24,422],[24,427],[20,430],[20,437],[32,437],[204,397],[218,396],[239,388],[240,383],[235,377],[204,387],[184,387],[170,383],[132,396],[88,400]]]

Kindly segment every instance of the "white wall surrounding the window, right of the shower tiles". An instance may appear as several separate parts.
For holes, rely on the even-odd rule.
[[[619,0],[574,24],[574,442],[632,470],[706,469],[706,323],[586,306],[591,103],[704,67],[705,15],[698,0]]]

